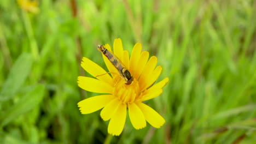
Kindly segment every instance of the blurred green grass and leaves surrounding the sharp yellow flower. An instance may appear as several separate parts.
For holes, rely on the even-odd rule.
[[[37,3],[38,2],[38,3]],[[106,68],[98,44],[121,38],[158,57],[169,77],[147,104],[166,123],[107,134],[97,95],[77,86],[82,57]],[[0,2],[0,143],[255,143],[256,2]],[[159,81],[158,80],[158,81]]]

